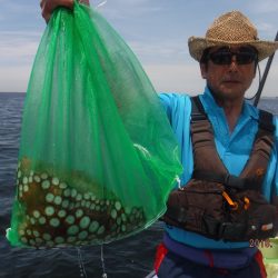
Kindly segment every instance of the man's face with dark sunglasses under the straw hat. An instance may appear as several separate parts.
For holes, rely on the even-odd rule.
[[[200,66],[201,75],[218,99],[242,99],[255,78],[255,60],[256,52],[248,46],[215,47],[207,64]]]

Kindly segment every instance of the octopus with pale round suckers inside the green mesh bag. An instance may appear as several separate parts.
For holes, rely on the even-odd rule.
[[[51,248],[102,244],[143,226],[140,207],[123,207],[112,192],[109,199],[78,191],[48,171],[30,170],[30,160],[18,165],[18,201],[22,207],[18,235],[26,246]]]

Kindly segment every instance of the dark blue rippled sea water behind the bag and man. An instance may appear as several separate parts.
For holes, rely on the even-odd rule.
[[[22,93],[0,93],[0,278],[102,277],[99,246],[33,250],[12,248],[4,237],[16,190],[23,100]],[[278,115],[278,99],[262,99],[259,107]],[[105,245],[108,278],[146,277],[152,269],[161,237],[161,224],[157,222],[128,239]]]

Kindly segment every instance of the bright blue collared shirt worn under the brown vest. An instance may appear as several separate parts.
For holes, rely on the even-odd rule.
[[[193,170],[192,145],[190,138],[191,101],[189,96],[186,95],[160,93],[159,97],[180,146],[180,159],[183,166],[183,173],[180,179],[181,185],[186,185],[191,178]],[[208,88],[206,88],[203,95],[200,96],[200,100],[212,123],[216,148],[220,159],[231,175],[239,176],[249,158],[252,142],[258,130],[258,109],[245,102],[238,122],[232,132],[230,132],[225,111],[216,103]],[[276,145],[262,186],[264,195],[268,200],[270,200],[270,195],[274,189],[278,192],[277,118],[275,118],[275,125]],[[167,226],[166,231],[172,239],[196,248],[230,249],[249,247],[249,242],[224,242],[222,240],[209,239],[196,232],[186,231],[176,227]]]

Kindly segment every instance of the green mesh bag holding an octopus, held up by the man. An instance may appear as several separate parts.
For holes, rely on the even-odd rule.
[[[165,212],[180,172],[168,119],[135,54],[90,8],[58,9],[24,103],[11,245],[133,235]]]

